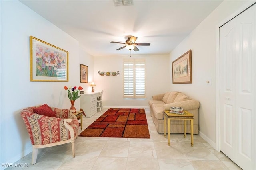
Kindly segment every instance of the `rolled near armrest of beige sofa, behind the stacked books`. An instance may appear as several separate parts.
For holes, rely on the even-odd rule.
[[[194,110],[198,109],[200,104],[197,100],[185,100],[182,102],[169,103],[164,105],[164,110],[170,110],[170,107],[182,107],[183,110]]]

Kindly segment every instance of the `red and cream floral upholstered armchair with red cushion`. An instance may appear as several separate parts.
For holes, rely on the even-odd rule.
[[[71,143],[75,157],[75,139],[78,120],[68,109],[49,107],[47,104],[23,109],[20,112],[33,147],[31,164],[36,163],[38,148]]]

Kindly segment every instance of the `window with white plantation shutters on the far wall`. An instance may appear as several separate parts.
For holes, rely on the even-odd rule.
[[[146,98],[146,60],[124,60],[124,98]]]

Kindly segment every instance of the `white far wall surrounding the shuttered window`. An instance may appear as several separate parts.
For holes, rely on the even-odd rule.
[[[124,49],[125,50],[125,49]],[[129,51],[127,51],[127,54]],[[123,98],[123,59],[129,55],[94,57],[94,91],[103,92],[102,104],[106,107],[148,107],[152,95],[169,90],[168,55],[132,55],[131,58],[146,59],[146,99]],[[117,72],[118,76],[99,76],[100,72]],[[91,90],[91,89],[90,89]]]

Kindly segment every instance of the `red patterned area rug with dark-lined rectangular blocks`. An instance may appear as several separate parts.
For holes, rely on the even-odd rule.
[[[145,109],[108,109],[79,136],[150,138]]]

